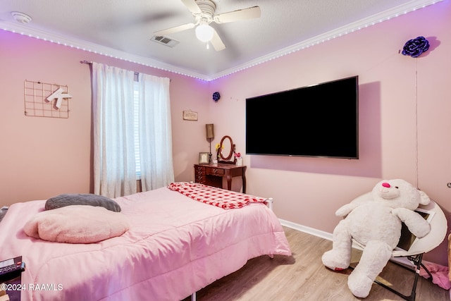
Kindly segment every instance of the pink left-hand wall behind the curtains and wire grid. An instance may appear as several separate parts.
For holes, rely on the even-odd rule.
[[[202,138],[189,133],[201,125],[182,123],[181,116],[182,110],[199,109],[204,120],[197,104],[204,82],[0,30],[0,206],[92,192],[91,78],[82,60],[171,78],[175,174],[190,179],[197,155],[186,152]],[[25,116],[25,80],[68,85],[69,118]]]

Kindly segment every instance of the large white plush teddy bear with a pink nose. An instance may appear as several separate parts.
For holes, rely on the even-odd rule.
[[[347,269],[352,239],[364,245],[347,285],[354,296],[367,297],[400,240],[402,222],[418,238],[431,231],[429,223],[414,211],[419,204],[429,202],[426,193],[405,180],[382,180],[374,186],[371,195],[358,197],[335,212],[345,219],[333,231],[332,250],[323,254],[323,264],[335,271]]]

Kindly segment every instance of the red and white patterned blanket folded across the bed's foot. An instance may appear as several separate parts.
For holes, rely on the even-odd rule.
[[[200,183],[178,182],[171,183],[168,188],[178,191],[187,197],[205,204],[214,205],[223,209],[235,209],[246,206],[249,203],[266,203],[264,197],[254,197],[241,192],[214,188]]]

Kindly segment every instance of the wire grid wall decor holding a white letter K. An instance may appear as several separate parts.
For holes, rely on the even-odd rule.
[[[69,118],[68,86],[44,82],[24,82],[25,116]],[[48,99],[54,96],[54,99]]]

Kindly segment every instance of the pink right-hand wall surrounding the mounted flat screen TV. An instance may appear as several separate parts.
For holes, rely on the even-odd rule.
[[[244,152],[246,97],[359,75],[360,159],[245,156],[248,192],[274,197],[280,219],[331,233],[335,209],[378,180],[404,178],[449,219],[450,6],[444,1],[211,82],[222,95],[209,104],[218,130]],[[419,35],[431,42],[426,54],[398,53]],[[446,244],[426,259],[446,264]]]

